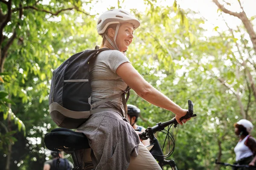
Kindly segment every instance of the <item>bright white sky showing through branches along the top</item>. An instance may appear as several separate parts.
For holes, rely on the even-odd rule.
[[[163,6],[172,6],[174,0],[161,0],[157,1],[156,5],[163,5]],[[227,26],[223,21],[223,18],[219,16],[220,12],[216,12],[218,7],[212,2],[212,0],[177,0],[177,3],[180,5],[180,8],[183,9],[191,9],[192,11],[199,12],[201,14],[200,17],[204,16],[208,22],[205,23],[207,29],[209,29],[208,34],[211,35],[212,29],[218,26],[221,30],[227,30]],[[220,1],[220,3],[223,3]],[[256,0],[246,0],[241,1],[244,11],[247,14],[247,17],[252,17],[256,14],[255,6]],[[231,6],[225,6],[230,11],[239,12],[241,8],[237,0],[232,0],[230,3]],[[129,0],[125,1],[122,6],[125,6],[125,9],[136,8],[138,11],[145,11],[145,4],[143,0]],[[86,11],[92,7],[91,13],[92,14],[101,14],[102,12],[106,11],[107,8],[111,6],[118,8],[116,0],[99,0],[98,3],[92,4],[91,6],[85,6],[84,9]],[[228,23],[230,28],[235,28],[236,26],[241,24],[241,20],[236,17],[230,16],[228,14],[224,15],[224,20]],[[256,25],[255,23],[253,23]]]

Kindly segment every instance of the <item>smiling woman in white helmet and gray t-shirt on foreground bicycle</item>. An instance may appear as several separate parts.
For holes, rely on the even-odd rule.
[[[139,20],[122,9],[111,9],[98,19],[97,31],[102,36],[103,51],[89,63],[92,103],[106,99],[131,87],[153,105],[172,111],[178,123],[187,110],[180,108],[157,91],[134,69],[124,52],[134,38]],[[112,108],[94,113],[77,131],[84,133],[90,143],[90,153],[96,170],[160,170],[151,153],[140,142],[136,131],[127,121],[126,104],[122,96],[99,105]],[[125,113],[126,119],[123,119]],[[124,121],[126,120],[126,121]],[[185,123],[189,119],[184,119]]]

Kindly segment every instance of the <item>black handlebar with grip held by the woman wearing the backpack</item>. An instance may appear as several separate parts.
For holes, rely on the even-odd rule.
[[[182,121],[183,119],[189,119],[191,117],[195,117],[196,114],[194,114],[193,112],[193,102],[191,100],[188,100],[188,105],[189,105],[189,111],[187,111],[186,115],[181,117],[180,118],[180,121]],[[149,130],[151,130],[153,133],[156,133],[157,131],[161,131],[161,130],[164,130],[164,128],[168,125],[171,125],[171,124],[175,124],[174,127],[177,127],[177,120],[174,118],[172,118],[171,120],[167,121],[167,122],[159,122],[157,123],[157,125],[153,126],[153,127],[148,127],[145,132],[143,133],[140,133],[139,136],[140,136],[140,139],[145,139],[147,138],[146,136],[148,135],[148,132]]]

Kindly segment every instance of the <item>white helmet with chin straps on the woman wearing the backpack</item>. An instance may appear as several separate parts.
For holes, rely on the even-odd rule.
[[[140,26],[140,21],[137,20],[132,14],[123,9],[108,10],[99,16],[97,22],[98,34],[103,35],[116,50],[119,50],[116,45],[116,36],[121,23],[131,23],[134,26],[134,30]],[[111,24],[117,24],[114,42],[110,40],[107,34],[104,34],[108,26]]]

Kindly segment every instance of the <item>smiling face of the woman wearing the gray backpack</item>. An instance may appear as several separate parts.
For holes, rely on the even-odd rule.
[[[117,36],[116,36],[116,46],[119,51],[126,51],[133,39],[134,28],[131,23],[120,24]]]

